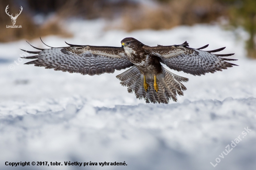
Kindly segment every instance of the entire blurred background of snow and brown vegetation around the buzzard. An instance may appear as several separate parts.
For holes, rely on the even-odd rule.
[[[20,13],[13,26],[10,15]],[[226,46],[239,65],[189,78],[178,102],[145,104],[115,77],[23,65],[20,49],[70,44]],[[254,170],[256,0],[0,0],[0,170],[5,162],[124,162],[86,170]],[[34,55],[34,54],[31,54]],[[244,137],[244,128],[249,134]],[[226,155],[236,137],[241,143]],[[224,153],[223,153],[224,152]],[[224,156],[224,158],[222,157]],[[221,162],[219,162],[219,160]]]

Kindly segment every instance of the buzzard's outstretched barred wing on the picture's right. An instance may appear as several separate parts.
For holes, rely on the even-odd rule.
[[[170,69],[178,72],[183,71],[193,75],[205,75],[205,73],[222,71],[227,67],[235,64],[226,62],[237,59],[225,59],[221,57],[231,56],[234,54],[213,54],[212,52],[222,51],[225,47],[211,51],[202,51],[208,45],[201,48],[189,48],[189,43],[184,42],[182,45],[174,46],[145,46],[145,50],[152,55],[158,56],[160,62],[166,64]]]

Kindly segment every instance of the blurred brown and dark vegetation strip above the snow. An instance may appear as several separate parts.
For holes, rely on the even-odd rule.
[[[5,13],[19,13],[12,25]],[[170,29],[198,23],[219,24],[225,29],[243,27],[249,38],[247,56],[256,59],[256,0],[0,0],[0,42],[35,39],[39,36],[72,37],[61,26],[65,20],[103,19],[105,29],[127,32],[140,29]]]

